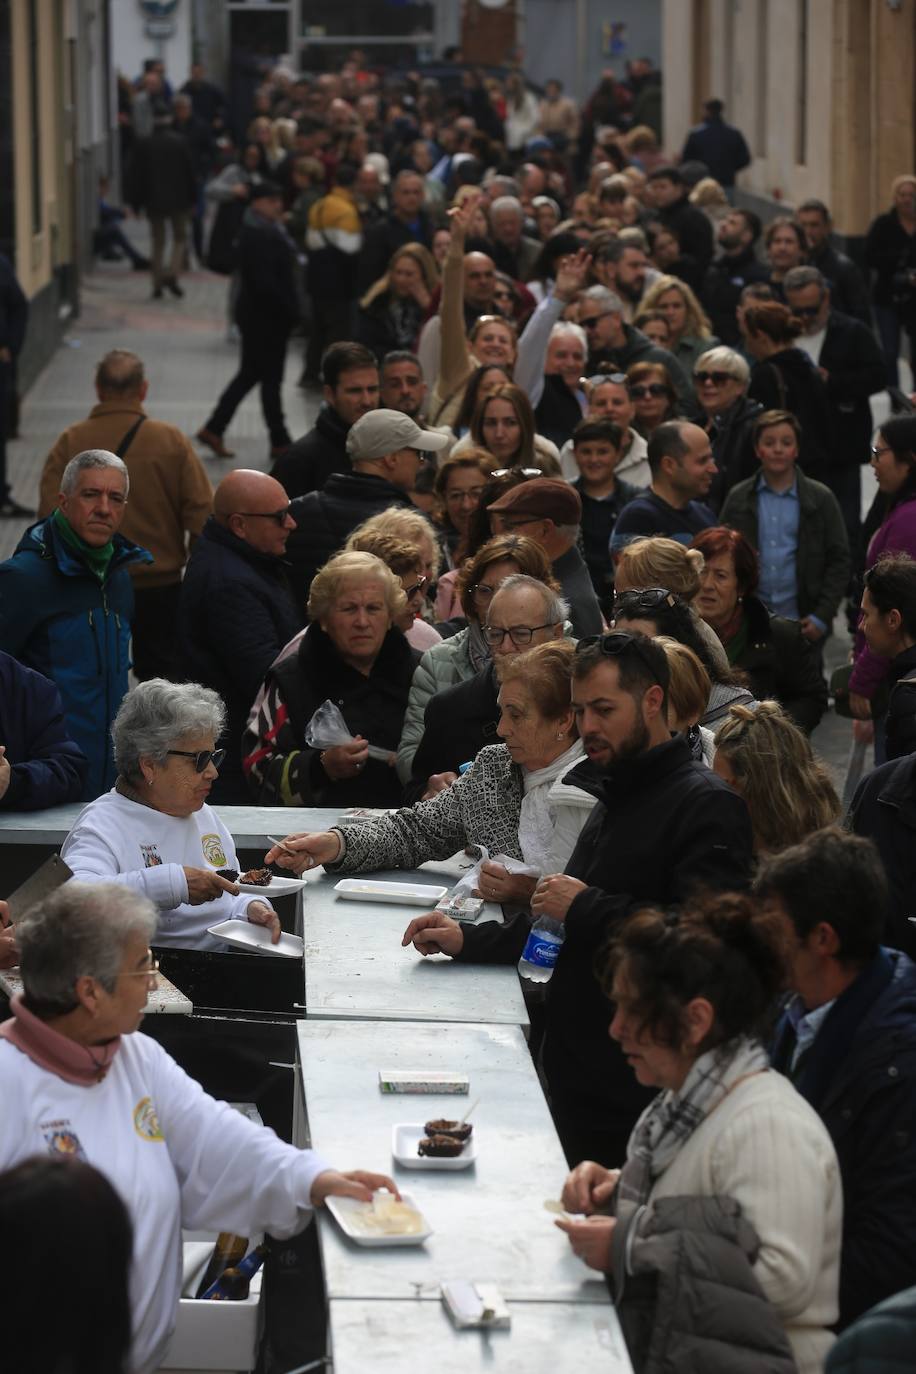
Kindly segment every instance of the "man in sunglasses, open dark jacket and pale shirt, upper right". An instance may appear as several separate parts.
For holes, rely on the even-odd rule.
[[[869,398],[886,385],[880,345],[861,320],[834,309],[829,283],[816,267],[792,268],[783,291],[803,323],[795,346],[808,353],[827,387],[829,463],[820,477],[839,502],[850,548],[856,548],[862,500],[860,469],[872,434]]]

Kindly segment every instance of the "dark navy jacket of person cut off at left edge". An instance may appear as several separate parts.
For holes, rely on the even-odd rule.
[[[89,761],[67,735],[60,692],[3,653],[0,745],[11,765],[3,811],[44,811],[82,796]]]

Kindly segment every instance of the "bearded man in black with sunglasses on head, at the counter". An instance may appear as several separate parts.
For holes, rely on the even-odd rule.
[[[667,682],[665,651],[644,635],[580,642],[573,709],[588,763],[567,782],[599,804],[566,872],[541,878],[531,899],[536,916],[566,929],[548,984],[544,1069],[570,1164],[619,1164],[648,1101],[608,1037],[612,1006],[595,977],[615,923],[640,907],[677,905],[699,889],[742,889],[750,878],[747,808],[694,761],[683,735],[672,736]],[[470,926],[431,912],[412,921],[404,938],[423,954],[508,963],[522,954],[527,933],[526,916]]]

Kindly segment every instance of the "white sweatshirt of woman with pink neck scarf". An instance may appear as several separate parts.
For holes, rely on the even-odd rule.
[[[121,1194],[133,1226],[132,1374],[158,1369],[181,1290],[181,1227],[295,1235],[331,1165],[216,1102],[147,1036],[124,1036],[107,1077],[82,1087],[0,1040],[0,1169],[76,1153]]]

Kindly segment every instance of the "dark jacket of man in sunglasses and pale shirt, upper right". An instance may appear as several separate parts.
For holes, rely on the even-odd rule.
[[[831,311],[820,365],[828,374],[829,467],[857,467],[869,458],[873,425],[869,397],[886,386],[880,345],[860,320]]]

